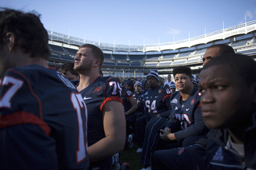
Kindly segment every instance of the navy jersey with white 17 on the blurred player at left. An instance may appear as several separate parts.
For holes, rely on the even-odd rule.
[[[54,69],[8,69],[0,86],[1,169],[86,169],[86,105]]]

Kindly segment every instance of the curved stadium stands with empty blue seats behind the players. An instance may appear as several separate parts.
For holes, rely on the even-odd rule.
[[[218,30],[177,42],[151,45],[118,45],[74,38],[48,30],[52,52],[49,65],[57,69],[67,61],[74,61],[80,45],[90,43],[102,49],[105,60],[102,65],[104,76],[141,77],[152,69],[158,69],[163,77],[172,73],[174,67],[188,65],[193,73],[202,69],[202,56],[210,45],[227,44],[236,53],[250,55],[256,60],[256,20],[238,26]]]

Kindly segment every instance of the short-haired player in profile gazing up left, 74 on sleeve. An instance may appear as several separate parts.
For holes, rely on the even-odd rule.
[[[112,169],[112,155],[123,150],[126,140],[122,89],[113,77],[99,75],[104,55],[97,46],[82,45],[74,60],[80,75],[77,89],[88,111],[90,168]]]

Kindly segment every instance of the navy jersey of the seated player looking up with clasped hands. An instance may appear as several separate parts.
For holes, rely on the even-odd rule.
[[[170,98],[172,111],[166,127],[174,132],[177,140],[183,140],[192,135],[204,135],[208,132],[202,120],[200,98],[201,95],[196,87],[186,101],[182,101],[179,91],[172,94]]]

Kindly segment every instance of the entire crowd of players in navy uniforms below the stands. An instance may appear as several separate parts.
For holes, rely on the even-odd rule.
[[[256,62],[212,45],[198,80],[187,66],[163,82],[104,77],[104,55],[80,46],[49,68],[38,14],[0,11],[0,169],[256,169]],[[198,85],[197,85],[198,84]]]

